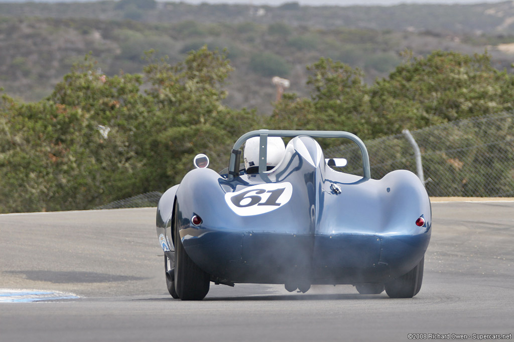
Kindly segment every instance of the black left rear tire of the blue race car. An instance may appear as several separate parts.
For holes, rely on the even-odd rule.
[[[209,292],[211,276],[187,255],[175,219],[175,291],[181,300],[201,300]]]

